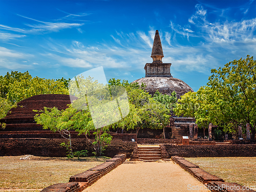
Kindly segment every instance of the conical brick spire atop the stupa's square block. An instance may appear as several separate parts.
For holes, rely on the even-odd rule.
[[[151,57],[153,58],[153,62],[162,62],[162,58],[164,57],[158,30],[156,30]]]

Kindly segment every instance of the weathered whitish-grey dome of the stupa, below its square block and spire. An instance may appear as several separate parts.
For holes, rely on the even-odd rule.
[[[177,98],[180,98],[181,95],[189,91],[194,92],[187,83],[173,77],[144,77],[133,81],[133,83],[135,82],[140,85],[143,82],[146,85],[145,91],[152,95],[154,95],[157,90],[162,94],[166,93],[168,95],[175,91]]]

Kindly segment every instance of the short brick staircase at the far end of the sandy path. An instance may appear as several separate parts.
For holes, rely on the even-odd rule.
[[[161,149],[159,145],[138,146],[139,160],[158,160],[161,159]]]

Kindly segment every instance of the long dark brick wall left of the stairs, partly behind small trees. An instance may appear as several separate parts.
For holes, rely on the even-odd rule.
[[[34,155],[43,157],[66,157],[67,150],[60,146],[67,139],[44,139],[44,138],[0,138],[0,156]],[[114,157],[116,154],[126,154],[130,157],[136,142],[112,140],[106,147],[104,156]],[[88,156],[93,156],[93,146],[86,139],[72,139],[73,151],[87,150]]]

